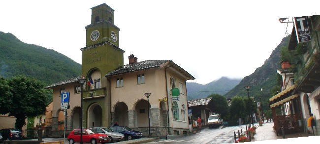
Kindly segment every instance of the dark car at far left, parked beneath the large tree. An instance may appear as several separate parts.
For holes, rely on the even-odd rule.
[[[2,141],[5,140],[22,140],[22,132],[16,128],[4,128],[0,130]]]

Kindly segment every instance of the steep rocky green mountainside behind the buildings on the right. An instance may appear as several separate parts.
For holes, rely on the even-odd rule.
[[[280,51],[281,48],[288,47],[289,36],[282,39],[280,44],[273,50],[270,57],[264,62],[261,67],[256,68],[255,72],[246,76],[237,86],[228,91],[224,96],[232,98],[234,96],[248,96],[244,86],[251,86],[249,89],[250,97],[257,98],[262,96],[262,103],[268,103],[268,99],[272,97],[272,89],[274,86],[279,86],[277,69],[280,68]],[[261,91],[261,88],[263,89]],[[280,90],[280,89],[279,89]]]

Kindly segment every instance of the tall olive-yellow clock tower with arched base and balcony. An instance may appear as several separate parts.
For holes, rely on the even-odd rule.
[[[114,10],[103,3],[91,8],[91,24],[86,26],[86,47],[82,51],[83,126],[109,127],[110,82],[104,76],[124,65],[124,50],[119,48],[119,31],[114,25]],[[92,118],[94,116],[94,118]]]

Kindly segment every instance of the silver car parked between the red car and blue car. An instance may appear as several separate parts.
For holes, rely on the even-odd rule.
[[[93,127],[90,128],[94,133],[99,133],[99,134],[107,134],[109,137],[109,142],[114,142],[114,141],[121,141],[125,138],[124,134],[112,131],[111,129],[107,127]]]

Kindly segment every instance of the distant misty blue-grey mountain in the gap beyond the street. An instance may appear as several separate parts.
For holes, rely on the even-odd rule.
[[[241,79],[229,79],[222,77],[206,85],[198,83],[187,83],[188,100],[206,98],[210,94],[224,95],[234,86],[240,83]]]

